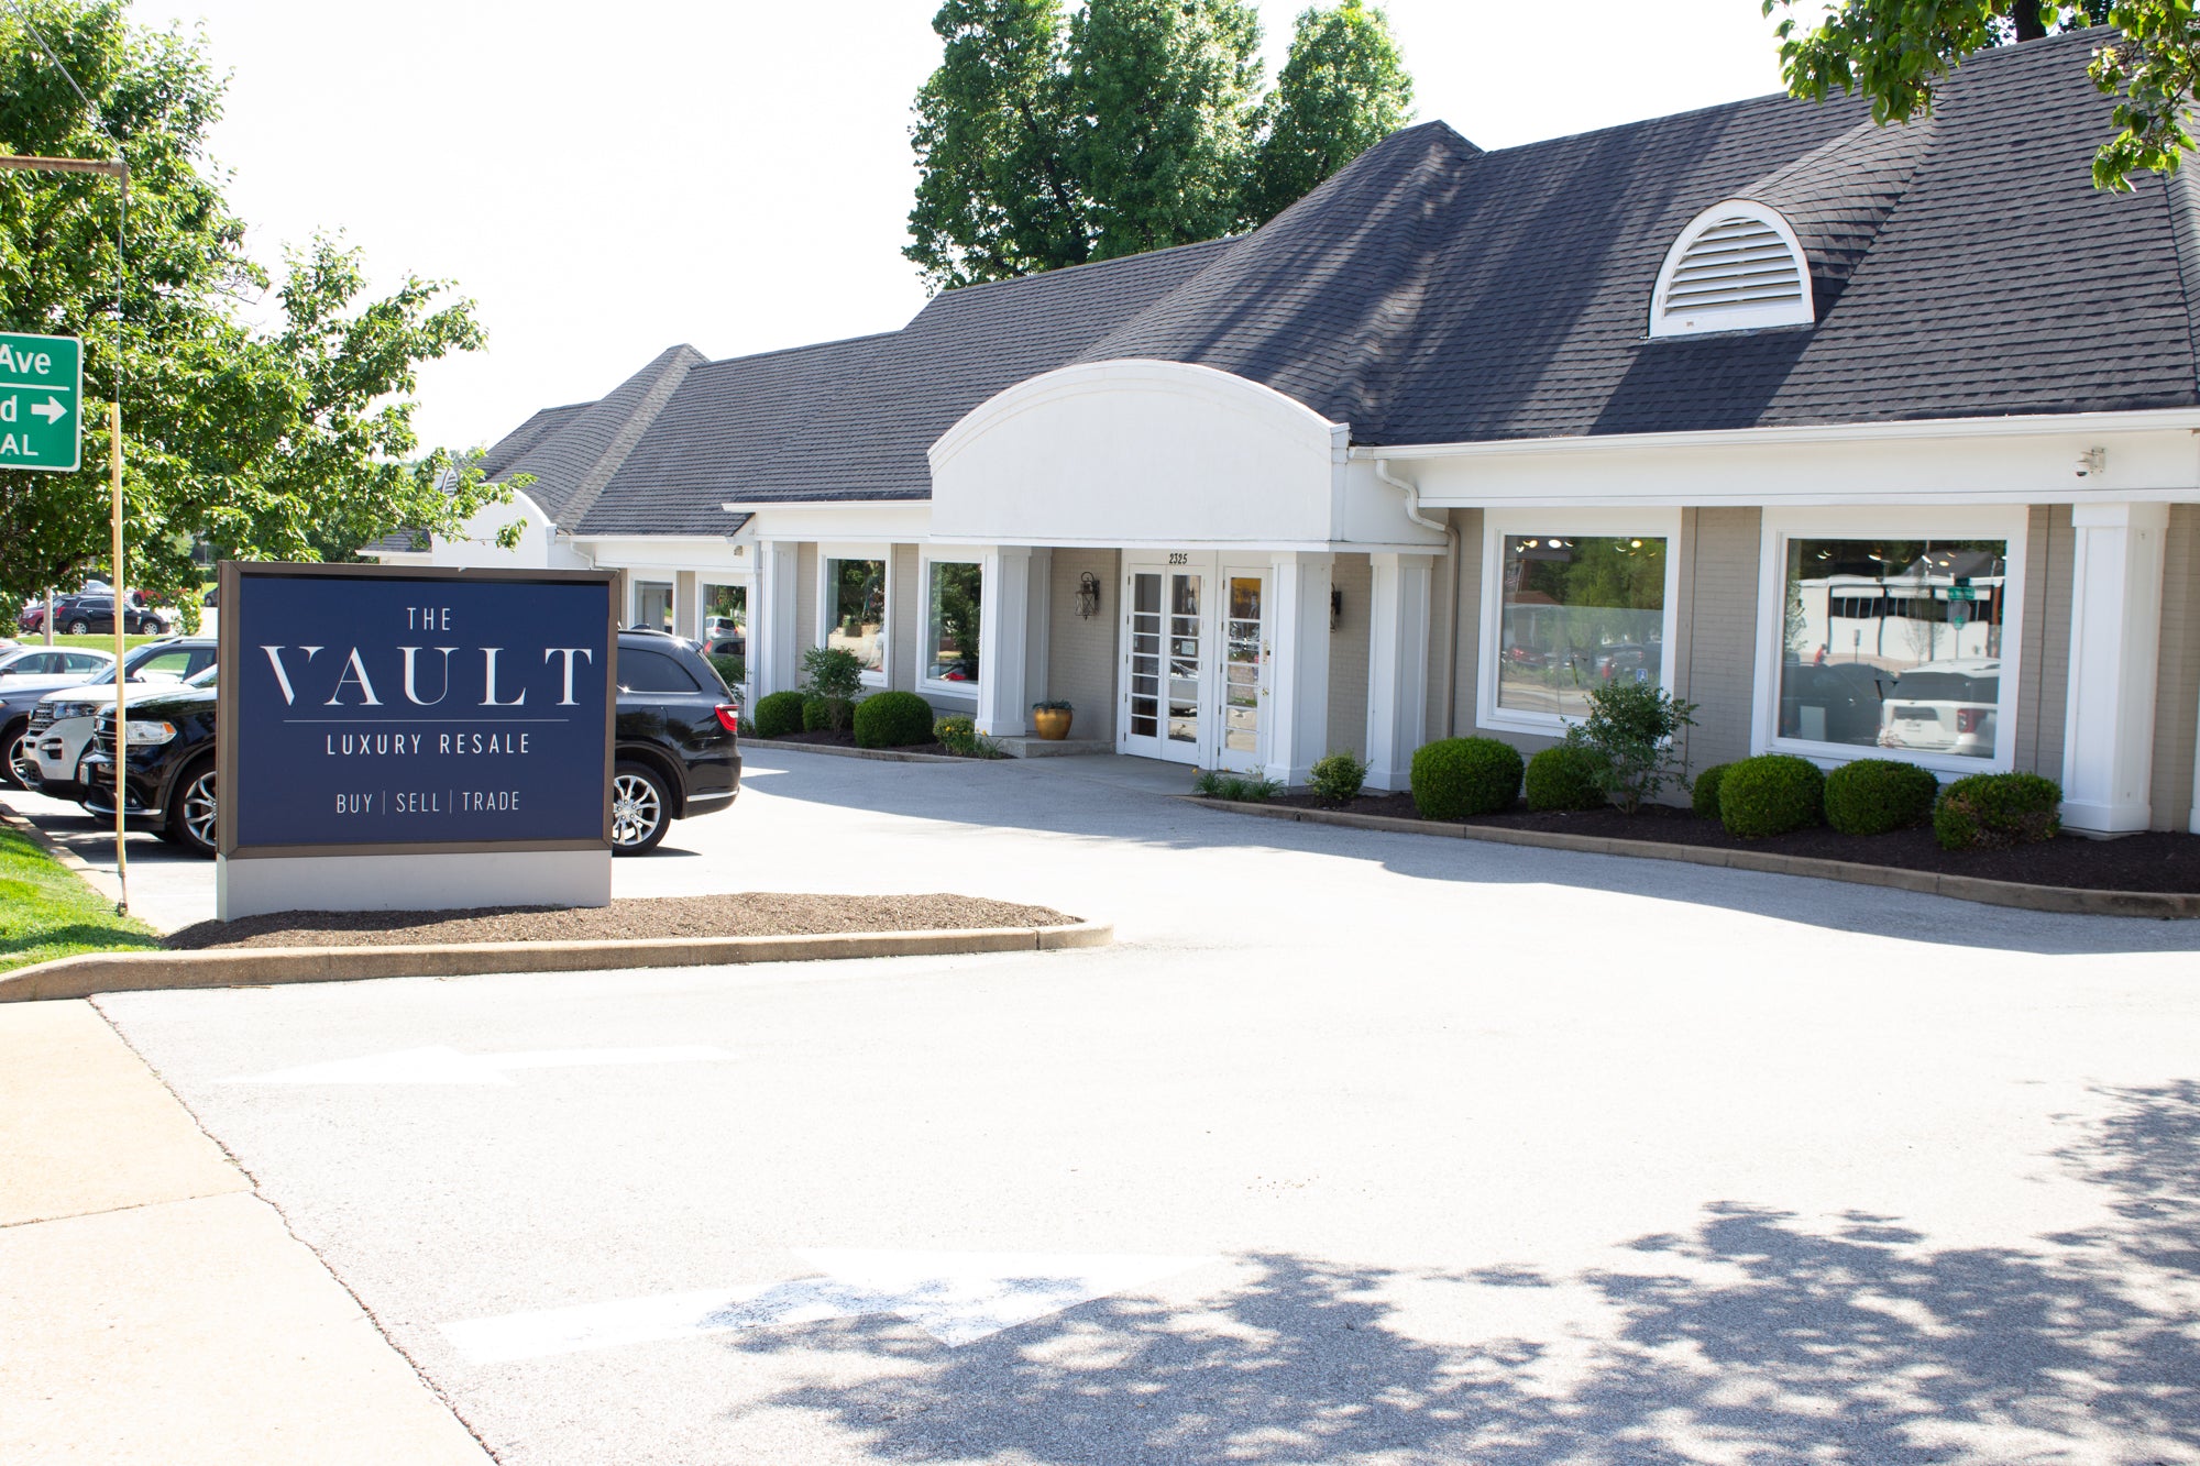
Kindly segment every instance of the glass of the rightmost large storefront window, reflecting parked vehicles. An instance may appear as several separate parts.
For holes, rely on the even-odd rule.
[[[2002,755],[2006,539],[1789,539],[1780,737]]]

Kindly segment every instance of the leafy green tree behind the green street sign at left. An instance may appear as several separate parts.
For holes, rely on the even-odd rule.
[[[407,275],[367,297],[356,251],[315,238],[271,280],[209,158],[222,81],[198,40],[136,26],[123,0],[24,0],[86,108],[15,9],[0,11],[0,152],[130,165],[117,299],[112,180],[0,174],[0,330],[84,339],[79,473],[0,473],[0,594],[68,586],[108,555],[108,436],[123,407],[132,586],[198,586],[196,544],[244,559],[348,559],[396,528],[455,533],[508,497],[475,467],[418,456],[420,361],[482,346],[473,304]],[[103,128],[101,128],[103,123]],[[407,462],[411,460],[411,462]]]

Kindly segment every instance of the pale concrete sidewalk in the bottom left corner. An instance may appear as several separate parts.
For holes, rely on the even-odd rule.
[[[0,1462],[488,1453],[84,1002],[0,1010]]]

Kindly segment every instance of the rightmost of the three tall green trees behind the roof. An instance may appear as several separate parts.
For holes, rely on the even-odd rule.
[[[1245,222],[1265,225],[1410,121],[1412,77],[1382,9],[1342,0],[1300,11],[1267,99]]]

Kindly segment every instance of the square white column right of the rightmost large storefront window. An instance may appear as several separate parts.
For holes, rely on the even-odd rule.
[[[2079,504],[2070,577],[2064,823],[2114,834],[2152,823],[2154,674],[2163,643],[2167,504]]]

